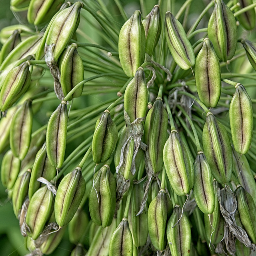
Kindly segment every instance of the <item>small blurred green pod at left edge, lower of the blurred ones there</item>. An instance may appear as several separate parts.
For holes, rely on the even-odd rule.
[[[12,150],[8,150],[3,157],[1,165],[1,181],[4,188],[10,190],[20,172],[20,159],[12,154]]]

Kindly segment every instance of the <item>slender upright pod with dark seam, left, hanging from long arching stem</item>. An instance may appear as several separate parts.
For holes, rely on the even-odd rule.
[[[46,130],[46,152],[51,164],[61,168],[66,151],[68,108],[66,102],[60,103],[52,113]]]

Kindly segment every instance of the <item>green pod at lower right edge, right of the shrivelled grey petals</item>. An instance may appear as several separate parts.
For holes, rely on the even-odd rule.
[[[253,244],[256,243],[256,207],[252,196],[238,185],[236,188],[237,209],[244,229]]]

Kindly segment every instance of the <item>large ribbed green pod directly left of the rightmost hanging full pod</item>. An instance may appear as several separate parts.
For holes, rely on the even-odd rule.
[[[219,183],[226,184],[232,174],[232,148],[225,127],[211,112],[206,117],[202,140],[212,175]]]

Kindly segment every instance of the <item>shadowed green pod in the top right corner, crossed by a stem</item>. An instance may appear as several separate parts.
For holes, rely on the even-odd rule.
[[[239,3],[239,6],[236,5],[238,3]],[[237,6],[235,11],[237,12],[242,8],[249,6],[252,3],[253,3],[252,0],[234,0],[234,5]],[[236,16],[236,18],[246,30],[254,29],[255,23],[256,23],[256,15],[255,15],[254,8],[241,13],[240,15]]]

